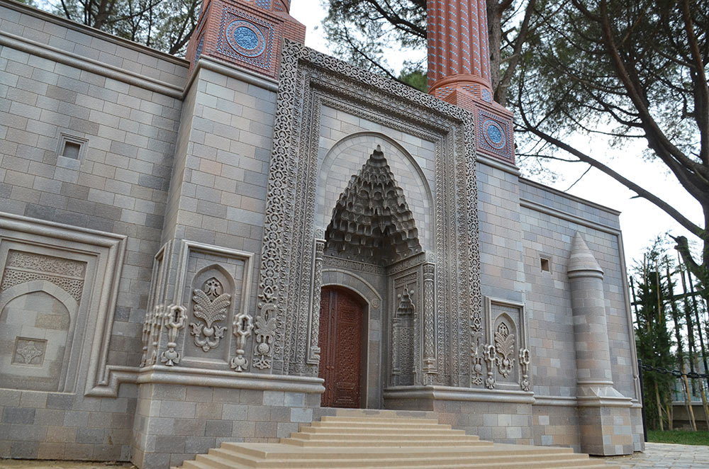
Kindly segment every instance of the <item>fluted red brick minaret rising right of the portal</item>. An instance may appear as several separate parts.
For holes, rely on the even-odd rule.
[[[485,0],[428,0],[428,92],[475,113],[478,151],[515,162],[512,113],[492,100]]]

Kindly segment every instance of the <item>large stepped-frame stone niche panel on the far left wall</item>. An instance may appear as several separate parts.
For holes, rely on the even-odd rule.
[[[103,394],[123,237],[47,225],[0,214],[0,386]]]

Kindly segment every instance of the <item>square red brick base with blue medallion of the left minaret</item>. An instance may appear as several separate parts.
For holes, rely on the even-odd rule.
[[[291,0],[204,0],[187,46],[190,71],[207,55],[277,78],[284,38],[305,42],[306,27],[289,14]]]

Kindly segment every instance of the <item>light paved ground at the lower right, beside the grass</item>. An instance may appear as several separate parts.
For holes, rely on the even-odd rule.
[[[644,453],[604,459],[623,469],[709,469],[709,446],[645,443]]]

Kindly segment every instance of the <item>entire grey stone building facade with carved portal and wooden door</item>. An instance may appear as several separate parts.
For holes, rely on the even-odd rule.
[[[288,11],[206,1],[182,60],[0,0],[0,457],[163,469],[336,407],[642,449],[618,212],[520,177],[482,74],[422,94]]]

